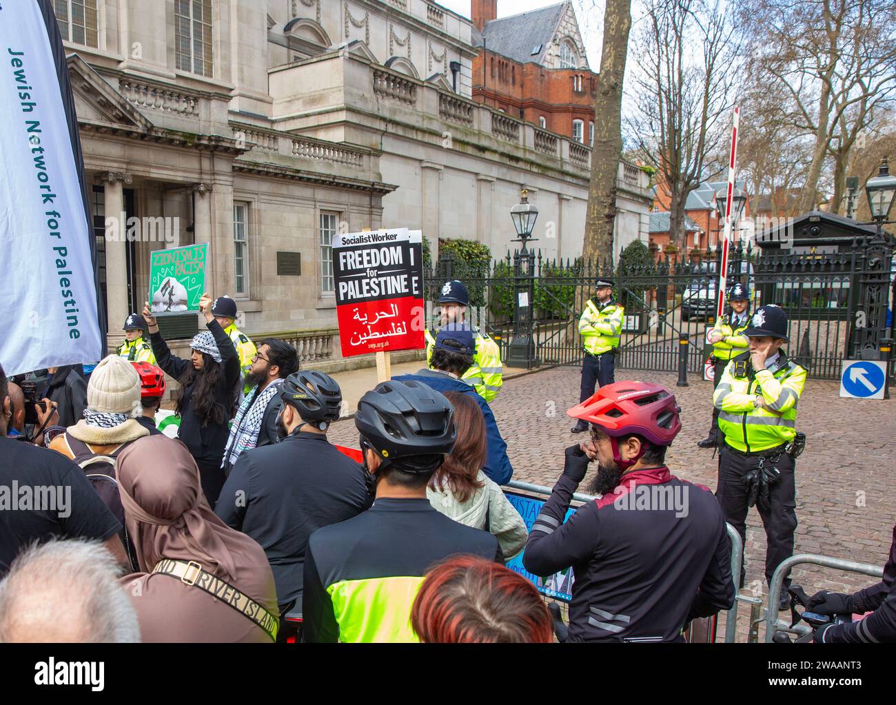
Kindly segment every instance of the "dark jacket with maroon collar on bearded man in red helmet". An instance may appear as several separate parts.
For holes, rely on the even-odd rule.
[[[563,523],[576,486],[560,476],[522,555],[543,577],[573,567],[569,641],[681,641],[687,621],[734,604],[725,517],[706,487],[636,470]]]

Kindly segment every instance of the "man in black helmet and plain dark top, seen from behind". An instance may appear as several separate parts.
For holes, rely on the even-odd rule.
[[[215,513],[262,546],[277,583],[280,615],[286,615],[293,606],[301,609],[308,537],[363,512],[370,501],[361,466],[327,441],[342,404],[336,380],[299,371],[279,389],[283,439],[240,456]]]

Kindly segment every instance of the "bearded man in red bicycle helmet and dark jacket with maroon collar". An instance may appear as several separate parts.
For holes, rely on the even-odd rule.
[[[591,439],[566,449],[522,562],[545,577],[573,567],[569,641],[683,641],[686,623],[734,604],[719,503],[665,465],[679,412],[668,390],[642,382],[608,384],[567,412]],[[590,460],[601,496],[563,523]]]

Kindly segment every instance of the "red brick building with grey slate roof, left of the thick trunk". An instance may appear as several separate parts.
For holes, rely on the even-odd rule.
[[[591,146],[598,74],[572,3],[496,17],[497,0],[471,0],[473,99]]]

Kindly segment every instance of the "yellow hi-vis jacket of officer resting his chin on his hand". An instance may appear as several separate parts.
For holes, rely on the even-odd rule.
[[[737,359],[728,363],[712,395],[725,443],[747,452],[790,443],[797,435],[797,401],[806,386],[806,369],[785,358],[774,372],[760,370],[750,379],[734,376],[735,365]],[[760,397],[773,410],[757,407]]]

